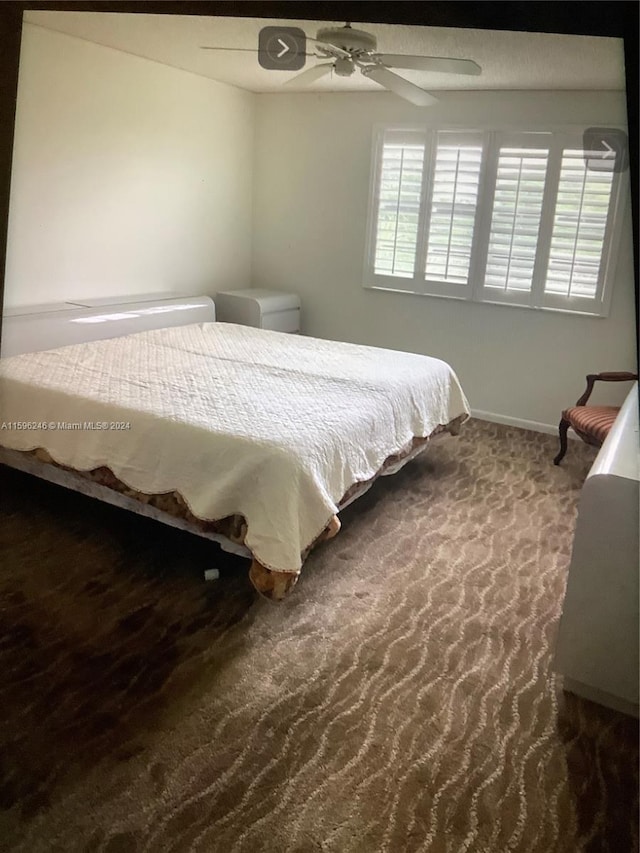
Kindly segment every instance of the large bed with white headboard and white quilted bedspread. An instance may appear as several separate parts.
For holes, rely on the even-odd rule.
[[[468,417],[441,360],[216,323],[208,297],[5,317],[0,462],[218,541],[274,600],[345,506]]]

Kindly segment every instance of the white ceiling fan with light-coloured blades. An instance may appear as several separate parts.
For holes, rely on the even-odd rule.
[[[394,53],[376,53],[377,39],[364,30],[354,30],[350,23],[343,27],[325,27],[318,30],[316,38],[307,37],[315,43],[316,53],[307,54],[319,59],[329,60],[319,65],[307,68],[296,74],[284,85],[293,86],[300,83],[314,83],[327,74],[337,74],[338,77],[351,77],[356,69],[385,89],[394,92],[401,98],[419,107],[436,103],[437,98],[430,95],[420,86],[409,82],[399,74],[390,71],[391,68],[412,71],[437,71],[448,74],[482,73],[480,66],[471,59],[455,59],[441,56],[407,56]],[[217,50],[219,48],[204,48]],[[228,48],[233,50],[234,48]],[[242,49],[242,48],[239,48]]]

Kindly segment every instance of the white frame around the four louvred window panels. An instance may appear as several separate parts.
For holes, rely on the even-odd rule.
[[[616,125],[626,132],[626,128]],[[586,125],[564,124],[545,127],[518,127],[515,125],[470,127],[447,123],[442,126],[428,124],[376,124],[373,127],[371,147],[370,187],[365,234],[363,287],[368,290],[386,290],[436,298],[461,299],[490,305],[507,305],[542,311],[555,311],[577,316],[607,317],[615,277],[618,249],[628,207],[629,181],[623,180],[626,171],[613,172],[609,213],[603,240],[596,294],[594,297],[563,296],[545,292],[545,277],[557,203],[562,154],[565,149],[583,148],[582,134]],[[418,240],[414,259],[413,277],[376,274],[374,272],[378,207],[376,196],[382,170],[382,152],[385,134],[415,137],[424,144],[422,187],[418,217]],[[482,140],[482,159],[478,176],[478,193],[473,238],[471,243],[468,284],[427,279],[421,272],[426,267],[427,236],[431,215],[431,191],[436,162],[438,134],[468,135]],[[521,293],[513,291],[491,292],[484,283],[489,251],[489,236],[496,189],[496,174],[501,146],[520,140],[526,147],[538,137],[549,144],[542,215],[538,231],[532,286]],[[542,146],[541,146],[542,147]]]

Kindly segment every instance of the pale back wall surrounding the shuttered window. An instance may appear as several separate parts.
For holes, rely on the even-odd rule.
[[[555,430],[588,372],[634,369],[630,211],[606,319],[362,287],[372,128],[423,121],[483,126],[625,124],[622,93],[441,93],[428,112],[380,94],[260,95],[254,287],[296,291],[307,334],[403,349],[454,366],[474,410]],[[628,385],[598,390],[620,401]]]

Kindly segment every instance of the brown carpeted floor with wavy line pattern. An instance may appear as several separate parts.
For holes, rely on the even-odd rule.
[[[0,467],[0,849],[637,851],[637,722],[551,670],[594,458],[555,451],[437,440],[281,605],[211,543]]]

